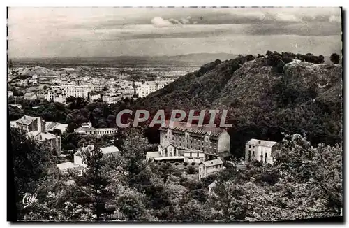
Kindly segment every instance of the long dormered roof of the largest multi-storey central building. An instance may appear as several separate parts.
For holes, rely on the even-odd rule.
[[[207,125],[203,125],[202,127],[198,127],[197,124],[191,124],[191,127],[186,127],[186,122],[173,122],[173,127],[170,127],[170,120],[165,121],[165,127],[160,127],[160,130],[166,130],[168,128],[175,131],[187,131],[193,134],[202,134],[209,136],[219,136],[224,129],[218,127],[209,127]]]

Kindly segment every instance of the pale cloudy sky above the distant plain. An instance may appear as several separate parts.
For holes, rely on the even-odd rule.
[[[340,8],[8,8],[8,57],[341,52]]]

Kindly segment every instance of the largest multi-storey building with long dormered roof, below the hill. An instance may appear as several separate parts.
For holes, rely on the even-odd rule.
[[[230,136],[224,129],[195,124],[186,127],[186,122],[174,122],[172,127],[167,121],[165,125],[159,128],[158,152],[147,152],[147,159],[198,164],[230,156]]]

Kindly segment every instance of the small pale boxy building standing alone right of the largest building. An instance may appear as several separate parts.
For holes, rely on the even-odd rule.
[[[252,138],[246,143],[245,161],[257,160],[262,163],[274,164],[272,153],[278,147],[278,143]]]

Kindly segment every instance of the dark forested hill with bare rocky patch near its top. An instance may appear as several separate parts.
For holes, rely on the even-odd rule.
[[[279,141],[282,133],[303,134],[314,145],[341,143],[341,64],[323,64],[321,55],[267,54],[217,59],[131,108],[151,115],[158,109],[228,109],[230,150],[237,157],[248,139]]]

